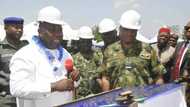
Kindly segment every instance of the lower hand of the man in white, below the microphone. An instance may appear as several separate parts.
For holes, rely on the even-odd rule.
[[[51,92],[71,91],[74,89],[74,82],[70,79],[62,79],[51,84]]]

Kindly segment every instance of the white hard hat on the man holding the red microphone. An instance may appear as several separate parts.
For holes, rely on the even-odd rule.
[[[47,6],[45,8],[42,8],[38,13],[37,21],[59,25],[62,25],[64,23],[61,12],[53,6]]]

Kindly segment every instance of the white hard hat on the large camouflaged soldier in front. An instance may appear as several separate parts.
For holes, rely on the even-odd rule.
[[[128,29],[140,29],[141,28],[141,15],[135,10],[129,10],[122,14],[120,25]]]

